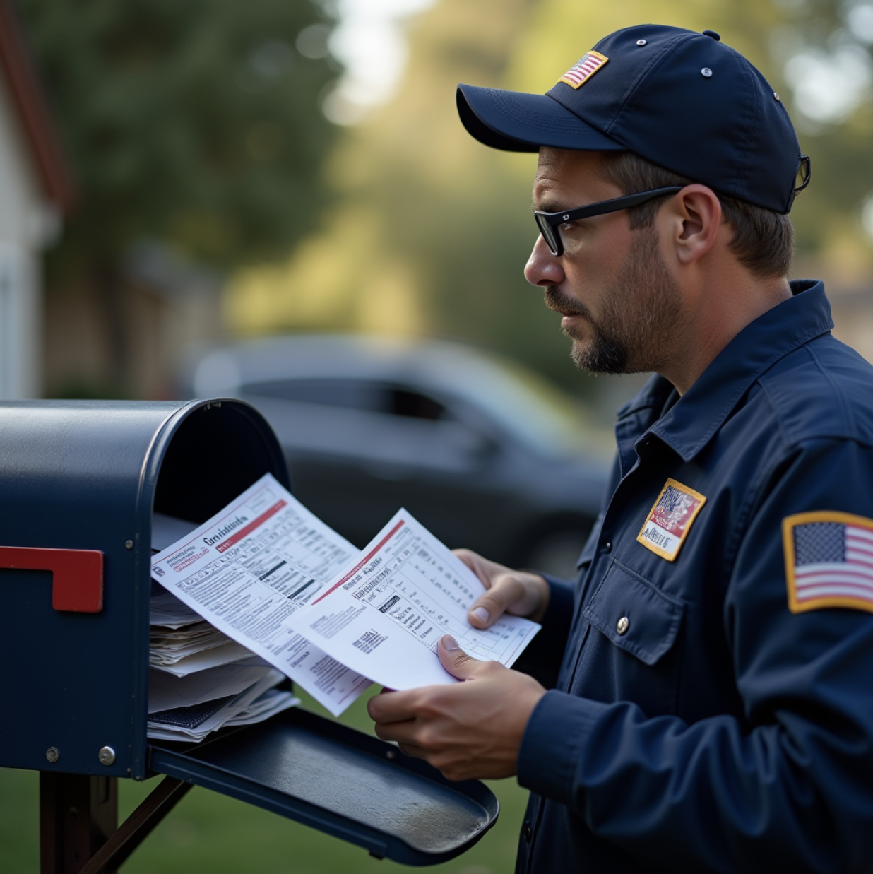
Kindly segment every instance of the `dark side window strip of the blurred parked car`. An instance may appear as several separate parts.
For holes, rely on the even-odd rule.
[[[411,419],[441,420],[446,407],[405,385],[369,379],[282,379],[246,385],[246,394],[302,404],[387,413]]]

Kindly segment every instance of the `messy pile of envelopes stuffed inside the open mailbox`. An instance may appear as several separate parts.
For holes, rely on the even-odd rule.
[[[178,535],[180,526],[191,529],[159,517],[153,547]],[[196,742],[225,725],[260,722],[299,702],[291,691],[275,688],[285,679],[281,671],[161,586],[152,591],[149,619],[149,738]]]

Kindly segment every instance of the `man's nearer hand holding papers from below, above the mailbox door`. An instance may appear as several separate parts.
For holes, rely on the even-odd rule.
[[[426,759],[449,780],[513,776],[544,688],[500,662],[471,658],[449,635],[440,638],[439,654],[443,667],[464,682],[372,697],[367,711],[378,737],[398,741],[404,753]]]

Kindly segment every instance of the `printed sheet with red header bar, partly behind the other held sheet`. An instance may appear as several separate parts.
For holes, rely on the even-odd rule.
[[[370,680],[298,633],[295,616],[357,555],[348,540],[267,474],[153,556],[152,577],[338,716]],[[209,655],[206,650],[188,658]]]

